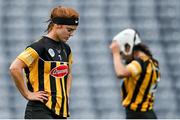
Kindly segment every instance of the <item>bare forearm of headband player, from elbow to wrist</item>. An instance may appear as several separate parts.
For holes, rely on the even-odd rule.
[[[11,66],[10,73],[15,82],[16,87],[18,88],[20,93],[27,99],[29,91],[24,83],[23,70],[21,68],[16,68],[14,66]]]

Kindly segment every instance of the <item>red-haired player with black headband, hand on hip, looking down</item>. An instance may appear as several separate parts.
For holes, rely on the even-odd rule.
[[[73,8],[53,8],[47,34],[27,46],[11,64],[14,82],[28,100],[25,119],[66,119],[69,116],[72,53],[66,42],[73,36],[78,18],[79,13]]]

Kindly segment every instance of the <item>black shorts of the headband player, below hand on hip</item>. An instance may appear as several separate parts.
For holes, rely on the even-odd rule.
[[[52,112],[39,101],[29,101],[26,106],[25,119],[67,119]]]

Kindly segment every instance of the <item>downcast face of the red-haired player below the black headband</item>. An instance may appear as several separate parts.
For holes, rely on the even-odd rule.
[[[67,42],[67,40],[73,36],[76,28],[77,26],[75,25],[61,25],[61,27],[57,29],[58,39]]]

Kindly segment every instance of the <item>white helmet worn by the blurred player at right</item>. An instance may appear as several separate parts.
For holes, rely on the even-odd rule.
[[[130,28],[119,32],[113,40],[117,41],[120,47],[120,52],[123,52],[125,55],[131,55],[134,45],[141,43],[141,39],[136,30]],[[126,45],[130,46],[128,52],[125,50]]]

